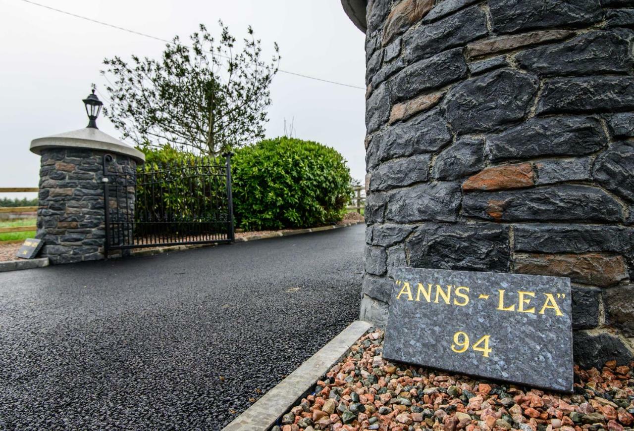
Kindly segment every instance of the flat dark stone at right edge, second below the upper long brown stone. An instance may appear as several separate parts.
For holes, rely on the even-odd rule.
[[[634,78],[615,76],[553,78],[546,82],[537,113],[634,110]]]

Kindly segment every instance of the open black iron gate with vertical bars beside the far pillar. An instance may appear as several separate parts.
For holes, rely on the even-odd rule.
[[[126,250],[165,245],[229,243],[233,231],[231,153],[134,170],[103,157],[105,247]]]

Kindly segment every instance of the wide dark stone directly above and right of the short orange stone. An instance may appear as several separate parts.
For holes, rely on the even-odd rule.
[[[486,152],[494,161],[543,156],[585,155],[607,145],[607,136],[593,117],[532,118],[489,136]]]

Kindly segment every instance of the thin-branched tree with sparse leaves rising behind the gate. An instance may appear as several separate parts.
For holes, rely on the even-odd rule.
[[[279,48],[271,63],[261,60],[261,41],[251,27],[240,53],[228,28],[219,22],[218,41],[204,25],[165,46],[162,58],[130,64],[106,58],[110,106],[104,110],[124,138],[137,145],[162,146],[217,155],[264,137],[269,85],[278,70]]]

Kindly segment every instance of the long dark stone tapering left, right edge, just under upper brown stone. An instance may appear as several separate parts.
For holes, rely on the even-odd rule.
[[[631,33],[588,32],[556,45],[527,49],[515,56],[517,63],[539,75],[598,75],[631,70]]]

